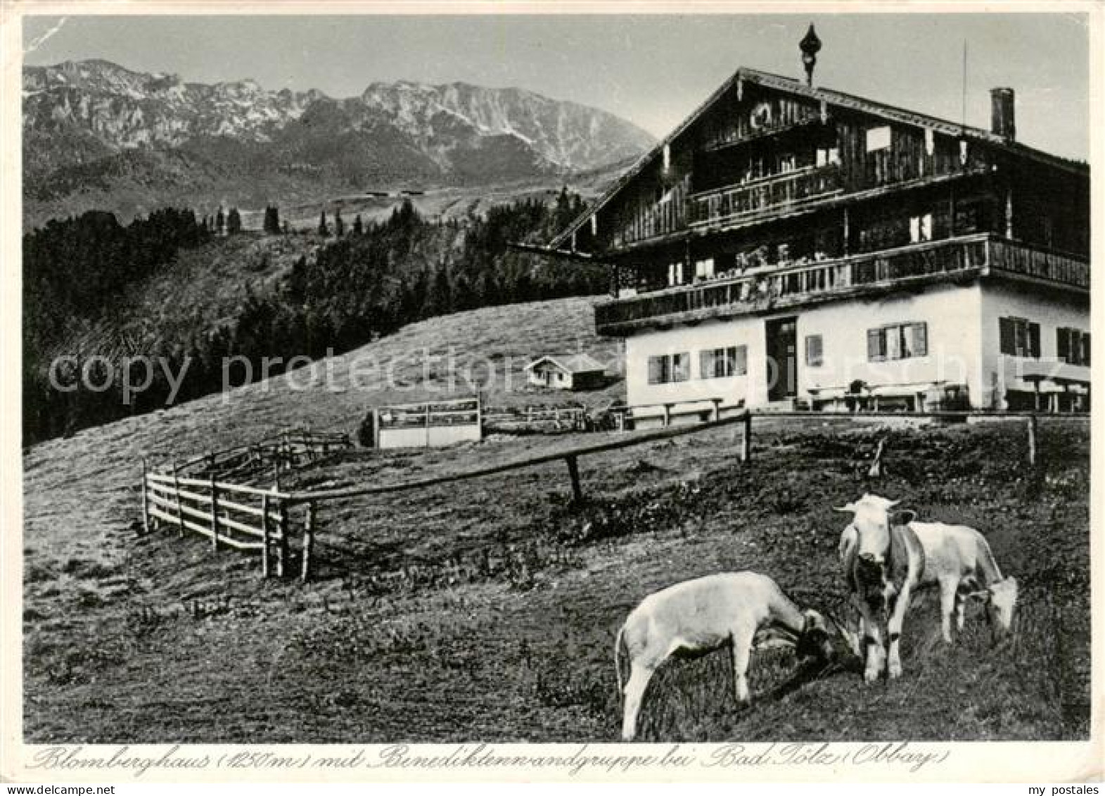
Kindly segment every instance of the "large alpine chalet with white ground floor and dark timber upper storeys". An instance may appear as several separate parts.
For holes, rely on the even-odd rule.
[[[617,180],[551,248],[611,271],[636,425],[1087,409],[1090,169],[991,97],[985,130],[740,69]]]

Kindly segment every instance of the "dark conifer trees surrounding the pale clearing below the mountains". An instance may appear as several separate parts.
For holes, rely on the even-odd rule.
[[[259,374],[265,357],[286,363],[328,350],[343,354],[435,315],[603,292],[607,276],[600,266],[508,245],[548,240],[581,208],[578,196],[561,191],[554,202],[522,200],[461,219],[424,219],[409,201],[386,220],[357,217],[339,226],[330,219],[325,235],[314,235],[319,247],[313,256],[301,256],[276,290],[246,295],[234,317],[187,335],[177,331],[176,336],[156,334],[148,341],[113,341],[108,350],[95,345],[71,350],[66,345],[73,338],[66,333],[78,323],[117,322],[122,327],[126,318],[113,313],[127,311],[122,300],[130,291],[172,269],[183,250],[206,252],[224,238],[190,210],[158,210],[128,226],[104,212],[51,221],[23,238],[24,444],[165,407],[171,389],[164,370],[179,373],[186,358],[178,402],[222,389],[224,357],[245,357]],[[240,224],[229,226],[227,233],[277,235],[288,234],[286,230],[271,207],[263,233],[241,232]],[[149,387],[129,396],[128,405],[110,369],[123,357],[139,355],[165,364],[154,369]],[[55,381],[75,389],[60,390],[50,381],[51,363],[60,356],[71,358],[55,368]],[[81,368],[84,379],[77,378]],[[141,380],[136,374],[131,383]],[[107,386],[88,389],[84,383]]]

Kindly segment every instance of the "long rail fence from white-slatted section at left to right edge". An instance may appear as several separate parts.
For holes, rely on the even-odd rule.
[[[221,544],[242,551],[260,551],[262,554],[262,573],[264,575],[285,575],[290,572],[291,542],[298,535],[299,577],[306,582],[311,577],[314,555],[314,541],[318,532],[317,507],[326,501],[341,501],[366,495],[390,494],[410,490],[425,489],[440,484],[484,478],[497,473],[523,470],[562,460],[567,467],[573,499],[583,499],[582,484],[579,476],[579,459],[585,455],[596,455],[612,450],[667,440],[684,434],[701,433],[727,426],[740,426],[737,457],[741,462],[751,461],[753,419],[760,418],[803,418],[819,422],[832,419],[856,420],[883,418],[923,418],[945,420],[980,419],[1024,419],[1027,420],[1025,463],[1030,468],[1039,465],[1039,415],[1034,412],[980,412],[980,411],[939,411],[939,412],[864,412],[863,415],[821,413],[800,411],[751,412],[744,410],[729,417],[711,420],[697,425],[676,426],[659,431],[636,433],[629,438],[615,439],[598,444],[581,446],[566,451],[557,451],[543,455],[530,457],[514,462],[494,467],[470,470],[450,475],[440,475],[414,481],[403,481],[393,484],[373,484],[338,490],[316,490],[299,492],[282,492],[278,489],[264,490],[238,484],[218,483],[213,479],[202,480],[180,478],[164,473],[145,472],[143,491],[143,519],[147,527],[151,521],[175,524],[180,528],[194,531],[211,540],[212,549]],[[1087,412],[1063,415],[1046,415],[1049,418],[1088,418]],[[252,503],[251,503],[252,501]],[[293,522],[292,513],[296,507],[306,509],[301,522]]]

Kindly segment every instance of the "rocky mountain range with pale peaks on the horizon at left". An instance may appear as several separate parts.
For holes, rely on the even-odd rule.
[[[612,114],[520,88],[401,81],[334,98],[103,60],[23,70],[28,223],[93,208],[127,217],[551,180],[625,163],[652,142]]]

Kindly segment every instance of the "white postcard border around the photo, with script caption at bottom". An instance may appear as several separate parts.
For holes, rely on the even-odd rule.
[[[1105,163],[1105,124],[1103,124],[1103,81],[1105,81],[1105,48],[1103,48],[1103,24],[1105,24],[1105,2],[1102,0],[1071,2],[1018,2],[1001,0],[1000,2],[874,2],[874,1],[802,1],[792,2],[644,2],[627,0],[624,2],[592,2],[591,0],[568,0],[565,2],[530,1],[530,2],[368,2],[362,0],[328,0],[326,2],[303,2],[302,0],[267,0],[266,2],[154,2],[145,1],[94,1],[94,2],[12,2],[0,0],[0,50],[3,53],[2,83],[0,83],[0,146],[3,153],[0,167],[0,189],[3,193],[2,216],[0,216],[0,245],[2,245],[3,289],[0,290],[0,301],[6,322],[2,326],[2,345],[0,345],[0,364],[3,373],[19,371],[21,357],[20,328],[15,320],[20,317],[21,306],[21,158],[20,158],[20,95],[22,66],[22,29],[21,19],[25,15],[54,14],[435,14],[435,13],[1023,13],[1048,12],[1086,14],[1090,25],[1091,41],[1091,155],[1090,163],[1096,169]],[[1105,190],[1103,180],[1094,170],[1092,172],[1092,263],[1105,262]],[[1099,268],[1098,268],[1099,270]],[[1102,277],[1093,279],[1093,297],[1101,292]],[[1103,302],[1092,302],[1092,331],[1098,339],[1105,339],[1105,320],[1103,320]],[[1093,389],[1098,391],[1101,378],[1098,368],[1093,377]],[[2,597],[2,624],[0,624],[0,782],[19,783],[59,783],[59,782],[129,782],[130,776],[120,771],[73,769],[51,771],[32,767],[36,754],[45,748],[42,745],[24,745],[22,743],[22,666],[21,666],[21,603],[22,603],[22,469],[21,469],[21,425],[19,381],[7,380],[2,395],[2,426],[0,439],[9,454],[0,457],[0,522],[3,532],[0,534],[0,597]],[[703,767],[694,765],[678,768],[660,766],[641,766],[624,773],[604,773],[598,768],[588,768],[578,774],[559,768],[508,766],[503,768],[467,768],[441,766],[435,768],[357,768],[354,771],[329,771],[325,776],[317,771],[265,771],[249,768],[208,768],[189,772],[173,768],[151,768],[136,779],[137,782],[255,782],[255,783],[288,783],[318,782],[325,778],[329,782],[823,782],[839,779],[842,782],[1099,782],[1103,776],[1102,761],[1105,760],[1105,746],[1102,744],[1102,709],[1103,700],[1103,590],[1102,533],[1103,500],[1105,490],[1102,479],[1105,474],[1103,449],[1101,444],[1102,411],[1094,412],[1092,419],[1092,495],[1091,527],[1097,532],[1091,534],[1091,568],[1092,568],[1092,724],[1091,739],[1086,742],[1054,743],[911,743],[915,752],[933,752],[945,755],[941,763],[925,765],[919,771],[911,772],[905,766],[878,765],[772,765],[757,767]],[[571,754],[583,744],[491,744],[503,755],[508,754]],[[662,755],[674,744],[587,744],[589,754],[594,755]],[[830,744],[839,754],[854,756],[865,744]],[[699,760],[709,760],[716,754],[720,744],[678,744],[686,753],[696,755]],[[418,754],[449,754],[455,744],[419,745],[413,747]],[[749,744],[749,755],[762,752],[767,744]],[[70,747],[72,748],[72,747]],[[83,746],[81,753],[86,755],[113,754],[118,746]],[[134,755],[164,755],[171,745],[131,746]],[[316,745],[263,745],[263,746],[213,746],[192,745],[181,747],[179,754],[189,757],[208,755],[212,760],[228,760],[229,755],[249,750],[252,752],[273,752],[280,755],[313,754],[329,755],[352,754],[356,750],[365,750],[367,754],[378,754],[380,745],[357,746],[316,746]]]

